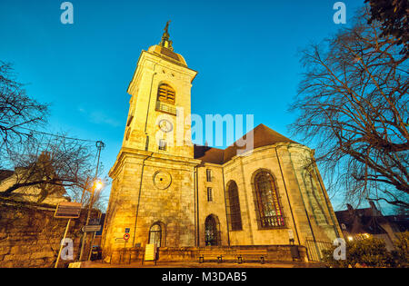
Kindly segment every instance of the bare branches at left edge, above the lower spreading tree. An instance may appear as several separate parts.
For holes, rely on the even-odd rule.
[[[15,80],[12,65],[0,61],[0,152],[24,141],[29,133],[22,127],[45,123],[47,112],[48,106],[30,98],[24,85]]]

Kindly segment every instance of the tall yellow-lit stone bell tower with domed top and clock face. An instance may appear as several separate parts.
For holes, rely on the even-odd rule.
[[[174,52],[169,22],[160,44],[139,57],[113,179],[105,255],[148,243],[195,246],[195,166],[191,87],[197,74]],[[125,241],[128,233],[130,239]]]

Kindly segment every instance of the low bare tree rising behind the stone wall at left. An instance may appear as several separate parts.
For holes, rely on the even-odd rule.
[[[33,187],[41,190],[37,202],[57,192],[75,196],[87,187],[86,180],[95,169],[91,145],[64,134],[33,135],[9,148],[7,154],[5,159],[15,173],[0,197]]]

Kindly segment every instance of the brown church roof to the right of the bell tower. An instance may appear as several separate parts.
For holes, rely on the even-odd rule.
[[[250,140],[250,136],[253,136],[253,150],[264,146],[274,145],[275,143],[296,143],[284,135],[268,128],[264,124],[260,124],[255,127],[252,132],[246,133],[240,138],[240,140],[236,141],[225,150],[195,145],[195,159],[202,160],[205,163],[226,163],[237,154],[238,150],[244,149],[245,146],[240,147],[241,144],[238,144],[237,142],[240,142],[241,140],[244,140],[245,142],[247,138]]]

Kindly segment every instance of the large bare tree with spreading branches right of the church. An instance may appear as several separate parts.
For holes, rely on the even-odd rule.
[[[290,128],[317,145],[325,177],[347,201],[407,208],[407,54],[369,19],[366,7],[353,27],[304,50],[304,78],[290,107],[299,116]]]

